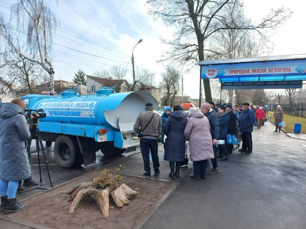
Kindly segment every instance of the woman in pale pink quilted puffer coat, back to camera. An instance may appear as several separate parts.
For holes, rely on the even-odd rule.
[[[190,158],[193,161],[191,178],[205,179],[207,160],[214,158],[214,150],[208,119],[197,108],[190,108],[189,118],[185,127],[185,138],[189,141]]]

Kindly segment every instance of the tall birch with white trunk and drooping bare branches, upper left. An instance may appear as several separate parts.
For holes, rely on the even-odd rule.
[[[0,35],[24,59],[40,64],[50,76],[50,95],[54,94],[54,69],[52,65],[52,38],[59,20],[55,18],[44,0],[19,0],[11,7],[10,21],[17,19],[16,24],[6,22],[0,16]],[[35,56],[27,56],[24,49],[16,46],[16,40],[26,39],[27,48]]]

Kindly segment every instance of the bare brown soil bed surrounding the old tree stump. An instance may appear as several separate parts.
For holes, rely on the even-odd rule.
[[[66,192],[70,191],[73,185],[90,182],[96,176],[97,172],[90,173],[88,176],[30,198],[23,202],[27,205],[26,210],[10,216],[54,229],[133,228],[174,185],[157,180],[122,176],[122,181],[126,185],[133,190],[138,189],[139,192],[128,205],[119,208],[110,198],[110,214],[107,218],[101,215],[95,202],[80,207],[74,213],[68,213],[71,202],[67,202],[69,195]]]

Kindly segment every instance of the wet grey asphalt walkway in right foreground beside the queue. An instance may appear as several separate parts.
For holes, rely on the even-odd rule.
[[[273,131],[254,129],[253,153],[235,149],[221,173],[186,176],[142,228],[306,228],[306,144]]]

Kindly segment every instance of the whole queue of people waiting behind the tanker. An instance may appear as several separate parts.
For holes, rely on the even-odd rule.
[[[238,151],[252,153],[255,119],[258,123],[257,128],[260,129],[265,118],[265,108],[263,104],[261,105],[257,108],[257,106],[250,106],[249,103],[232,106],[231,103],[221,105],[205,102],[201,104],[200,109],[191,107],[187,117],[182,107],[176,105],[173,111],[170,107],[166,107],[162,117],[159,118],[158,114],[154,115],[152,104],[146,104],[145,112],[137,117],[134,125],[136,133],[140,129],[143,133],[140,136],[140,149],[145,170],[143,176],[151,177],[149,151],[152,153],[154,175],[160,174],[157,155],[157,136],[160,133],[165,149],[164,160],[169,161],[171,178],[179,177],[180,168],[188,166],[188,159],[193,162],[194,174],[191,175],[193,179],[200,180],[206,177],[209,159],[211,159],[212,169],[208,173],[220,173],[217,158],[227,161],[228,155],[233,153],[233,144],[227,142],[228,135],[237,135],[241,132],[242,147]],[[274,112],[274,118],[274,124],[278,128],[279,122],[283,120],[280,106]],[[147,128],[144,129],[145,126]],[[189,157],[186,157],[185,153],[186,141],[189,144]]]

